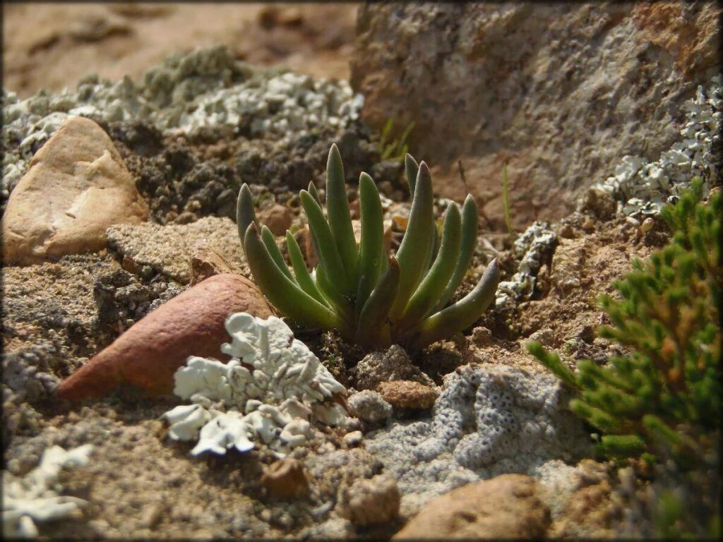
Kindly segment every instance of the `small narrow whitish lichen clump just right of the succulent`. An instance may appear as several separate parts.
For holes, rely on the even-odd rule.
[[[515,239],[515,259],[520,259],[517,272],[510,280],[503,280],[497,286],[495,306],[502,309],[513,306],[524,296],[534,291],[537,272],[544,258],[552,254],[557,244],[557,234],[547,222],[535,221]]]

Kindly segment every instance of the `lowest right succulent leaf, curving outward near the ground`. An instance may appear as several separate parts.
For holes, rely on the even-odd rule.
[[[406,332],[401,342],[411,348],[422,348],[471,326],[494,301],[499,283],[500,265],[497,259],[493,259],[469,294],[413,327]]]

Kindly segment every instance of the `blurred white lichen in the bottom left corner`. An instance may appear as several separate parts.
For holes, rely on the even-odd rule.
[[[3,534],[11,538],[36,538],[35,522],[59,520],[77,515],[87,502],[74,496],[61,496],[58,477],[67,467],[85,465],[93,445],[65,451],[53,446],[43,452],[40,465],[17,477],[2,473],[2,526]]]

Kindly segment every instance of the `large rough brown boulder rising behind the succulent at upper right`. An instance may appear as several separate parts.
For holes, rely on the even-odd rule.
[[[713,2],[367,4],[351,85],[411,148],[440,194],[465,186],[502,221],[560,218],[583,189],[677,137],[680,105],[720,69]],[[434,111],[434,113],[430,113]],[[452,129],[453,127],[453,129]]]

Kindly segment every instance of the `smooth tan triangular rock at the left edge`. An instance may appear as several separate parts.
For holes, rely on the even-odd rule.
[[[106,228],[148,208],[121,155],[90,119],[68,119],[30,160],[2,220],[3,256],[24,264],[106,246]]]

